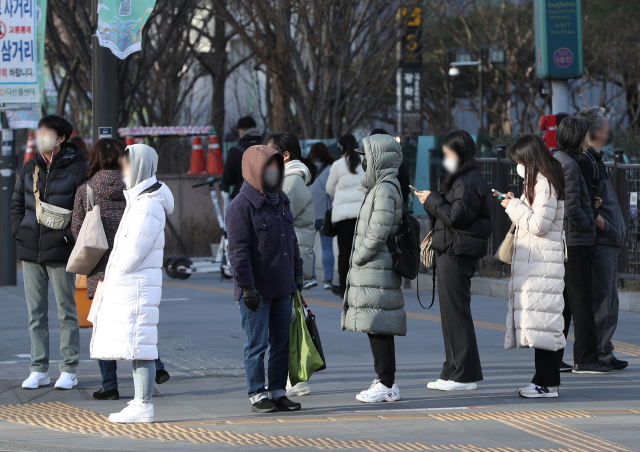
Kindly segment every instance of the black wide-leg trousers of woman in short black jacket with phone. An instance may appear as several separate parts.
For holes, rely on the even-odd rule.
[[[482,366],[471,316],[471,277],[476,261],[441,254],[436,257],[440,321],[446,361],[440,378],[458,383],[481,381]]]

